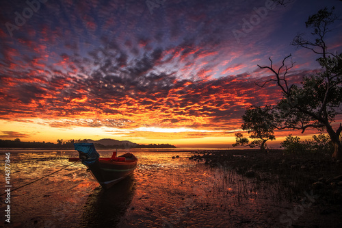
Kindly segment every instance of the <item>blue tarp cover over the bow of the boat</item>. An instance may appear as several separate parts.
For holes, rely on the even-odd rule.
[[[88,166],[94,164],[100,155],[97,153],[94,143],[74,143],[75,150],[79,151],[82,164]]]

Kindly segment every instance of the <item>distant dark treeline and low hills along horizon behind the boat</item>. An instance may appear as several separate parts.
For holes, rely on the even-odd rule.
[[[75,142],[87,142],[87,140],[57,140],[57,143],[53,142],[21,142],[20,139],[15,140],[1,140],[0,148],[2,149],[74,149]],[[104,145],[100,143],[94,143],[96,149],[132,149],[132,148],[176,148],[171,144],[133,144],[131,142],[122,142],[121,144],[109,144]]]

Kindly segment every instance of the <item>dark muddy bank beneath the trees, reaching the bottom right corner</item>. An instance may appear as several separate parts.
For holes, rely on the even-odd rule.
[[[276,186],[282,199],[298,205],[306,194],[314,195],[310,210],[304,208],[296,218],[298,227],[311,227],[308,223],[315,227],[317,219],[328,217],[331,227],[342,225],[337,219],[342,218],[342,164],[340,160],[332,160],[331,153],[289,153],[285,149],[272,149],[268,153],[258,149],[208,150],[194,152],[189,160],[212,168],[235,170],[239,175],[254,179],[255,183]]]

